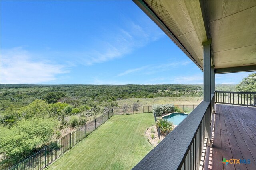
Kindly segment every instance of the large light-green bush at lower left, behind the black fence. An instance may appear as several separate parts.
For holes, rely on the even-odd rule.
[[[10,129],[1,127],[0,153],[6,156],[7,163],[16,164],[48,142],[56,125],[53,119],[33,118],[21,120]]]

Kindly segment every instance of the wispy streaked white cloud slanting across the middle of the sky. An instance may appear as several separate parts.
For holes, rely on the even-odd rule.
[[[156,25],[142,27],[134,22],[127,23],[126,28],[114,30],[105,37],[100,37],[100,43],[91,47],[89,51],[78,54],[85,65],[102,63],[115,58],[123,57],[135,49],[144,47],[150,42],[158,40],[164,34]],[[148,29],[150,27],[150,29]]]

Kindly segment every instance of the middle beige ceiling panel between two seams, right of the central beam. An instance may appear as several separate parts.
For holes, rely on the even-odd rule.
[[[256,44],[256,6],[210,23],[213,52]]]

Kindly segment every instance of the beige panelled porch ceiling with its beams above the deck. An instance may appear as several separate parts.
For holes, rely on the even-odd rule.
[[[202,43],[210,38],[216,69],[256,70],[256,1],[134,2],[201,70]]]

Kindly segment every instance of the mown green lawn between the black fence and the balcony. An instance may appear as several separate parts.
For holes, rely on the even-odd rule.
[[[48,169],[131,169],[153,149],[145,136],[152,124],[152,113],[115,115]]]

